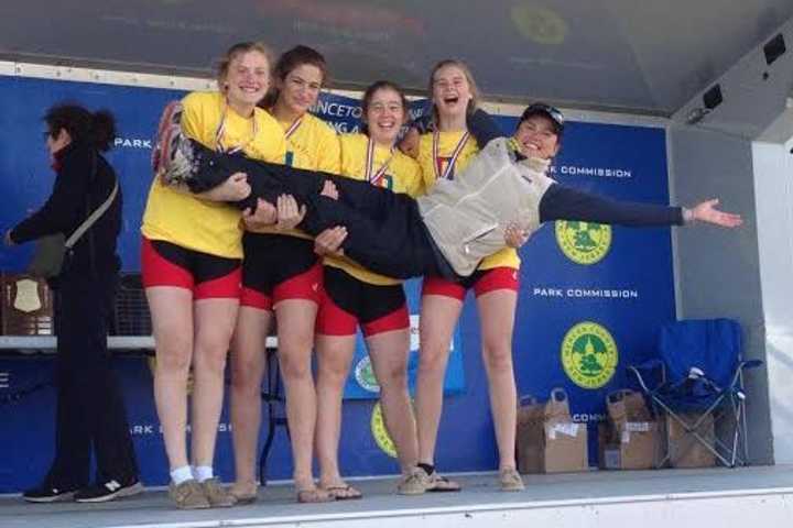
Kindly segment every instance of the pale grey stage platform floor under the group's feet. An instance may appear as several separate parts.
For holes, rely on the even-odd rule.
[[[0,497],[2,528],[80,527],[637,527],[792,526],[793,466],[526,475],[502,493],[496,475],[459,476],[460,493],[395,495],[394,479],[355,481],[360,501],[296,504],[289,484],[261,490],[253,505],[175,510],[165,492],[100,505],[26,504]]]

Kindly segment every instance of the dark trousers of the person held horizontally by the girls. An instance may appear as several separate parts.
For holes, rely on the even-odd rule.
[[[279,195],[289,194],[306,206],[300,229],[316,237],[325,229],[346,227],[345,254],[368,270],[394,278],[453,274],[424,226],[416,201],[408,195],[334,174],[218,154],[196,142],[193,146],[198,168],[188,185],[194,191],[210,189],[242,172],[252,193],[237,204],[240,209],[254,207],[257,198],[274,204]],[[328,179],[338,189],[338,200],[319,194]]]

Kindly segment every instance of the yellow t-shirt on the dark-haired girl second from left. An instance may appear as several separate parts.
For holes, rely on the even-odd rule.
[[[293,123],[279,121],[279,124],[286,132]],[[311,113],[303,116],[300,125],[286,138],[284,163],[292,167],[338,174],[340,158],[339,140],[336,131],[325,121]],[[257,233],[287,234],[301,239],[312,238],[296,229],[278,231],[275,228],[265,227],[252,231]]]

